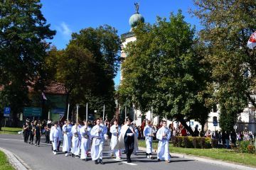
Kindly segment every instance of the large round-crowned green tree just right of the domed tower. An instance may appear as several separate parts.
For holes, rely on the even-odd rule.
[[[180,121],[193,135],[186,121],[204,124],[208,118],[207,64],[197,52],[201,45],[195,42],[195,28],[181,11],[169,19],[157,18],[153,26],[134,29],[137,40],[125,49],[129,55],[122,64],[119,91],[143,112],[153,106],[156,115]]]

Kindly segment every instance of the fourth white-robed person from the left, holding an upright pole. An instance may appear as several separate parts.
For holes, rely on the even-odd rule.
[[[84,126],[80,128],[80,135],[81,135],[81,156],[80,159],[87,161],[88,151],[90,148],[90,130],[91,128],[88,126],[86,120],[83,121]]]

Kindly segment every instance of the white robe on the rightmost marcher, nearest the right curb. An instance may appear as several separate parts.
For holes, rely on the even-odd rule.
[[[166,134],[165,137],[163,135]],[[171,138],[171,132],[168,128],[161,127],[156,132],[156,138],[159,140],[157,149],[157,159],[170,161],[171,157],[169,154],[169,140]]]

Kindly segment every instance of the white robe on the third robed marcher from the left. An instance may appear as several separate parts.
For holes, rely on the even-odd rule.
[[[73,125],[71,132],[73,134],[72,137],[72,148],[71,152],[72,154],[79,155],[80,153],[80,145],[81,145],[81,138],[80,138],[80,126],[76,127],[76,125]]]

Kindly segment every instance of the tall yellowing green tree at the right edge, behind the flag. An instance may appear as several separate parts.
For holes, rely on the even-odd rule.
[[[248,101],[255,104],[255,50],[246,43],[256,29],[256,1],[195,1],[201,41],[208,47],[220,127],[230,130]],[[230,128],[231,127],[231,128]]]

